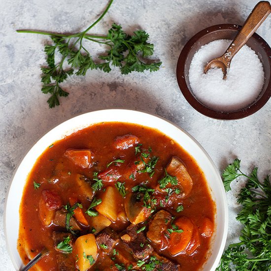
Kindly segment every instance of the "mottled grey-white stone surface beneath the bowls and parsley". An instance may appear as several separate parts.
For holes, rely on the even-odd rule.
[[[3,207],[11,176],[37,139],[61,122],[81,113],[105,108],[144,110],[173,121],[193,135],[219,170],[234,158],[244,169],[257,165],[260,175],[271,173],[271,101],[252,116],[235,121],[207,118],[182,96],[175,78],[181,49],[205,27],[242,24],[256,0],[115,0],[92,33],[105,34],[112,22],[132,33],[144,29],[155,44],[154,58],[163,62],[158,72],[121,75],[89,71],[63,84],[69,97],[49,109],[41,93],[40,66],[48,37],[18,34],[17,29],[78,32],[88,27],[107,0],[0,0],[0,270],[13,270],[3,234]],[[271,44],[271,16],[259,28]],[[103,52],[100,45],[94,52]],[[94,53],[95,54],[95,53]],[[242,182],[228,193],[228,241],[239,233],[235,222],[236,194]]]

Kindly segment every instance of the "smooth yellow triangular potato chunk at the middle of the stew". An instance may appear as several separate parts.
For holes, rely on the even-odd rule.
[[[105,192],[101,194],[102,203],[95,207],[100,214],[113,222],[118,218],[118,193],[116,188],[112,186],[106,187]]]

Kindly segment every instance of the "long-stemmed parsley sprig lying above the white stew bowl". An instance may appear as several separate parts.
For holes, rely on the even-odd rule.
[[[115,23],[108,30],[107,35],[93,35],[88,32],[99,23],[110,8],[113,0],[109,0],[102,15],[86,30],[75,34],[58,34],[32,30],[17,30],[18,33],[32,33],[50,35],[52,45],[45,45],[47,66],[42,67],[41,91],[50,94],[49,107],[59,105],[59,97],[67,97],[68,92],[63,90],[63,83],[68,76],[86,75],[89,69],[101,69],[109,72],[111,66],[119,67],[122,74],[132,71],[156,71],[161,62],[149,63],[144,58],[153,55],[154,46],[147,42],[149,35],[143,30],[137,30],[133,35],[126,34],[120,25]],[[99,56],[100,61],[94,61],[92,54],[86,49],[84,41],[104,44],[108,47],[105,54]],[[61,60],[56,62],[56,58]],[[68,68],[64,68],[68,65]]]

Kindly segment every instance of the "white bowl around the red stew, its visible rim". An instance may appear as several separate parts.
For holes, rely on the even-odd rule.
[[[218,170],[203,147],[180,127],[161,117],[126,109],[100,110],[74,117],[42,136],[24,157],[14,173],[4,206],[4,234],[15,270],[18,271],[23,266],[17,251],[19,206],[26,179],[35,161],[56,140],[91,124],[110,121],[129,122],[156,128],[178,142],[197,161],[207,179],[212,199],[216,203],[216,231],[212,237],[208,260],[203,266],[203,271],[214,271],[223,253],[228,231],[228,206]]]

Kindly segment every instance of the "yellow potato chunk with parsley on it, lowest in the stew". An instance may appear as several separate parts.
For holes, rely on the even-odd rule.
[[[86,271],[95,264],[98,254],[98,246],[93,234],[83,235],[76,239],[73,250],[76,265],[80,271]],[[91,264],[92,263],[92,264]]]

